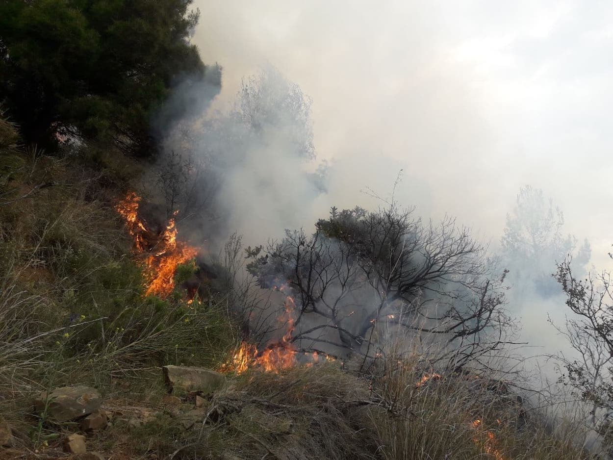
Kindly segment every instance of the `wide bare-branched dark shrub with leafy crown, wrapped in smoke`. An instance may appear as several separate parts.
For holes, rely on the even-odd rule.
[[[294,296],[292,340],[303,349],[375,356],[386,324],[443,344],[462,366],[500,347],[511,326],[503,277],[451,218],[423,223],[395,204],[332,208],[313,234],[287,231],[248,255],[262,287]]]

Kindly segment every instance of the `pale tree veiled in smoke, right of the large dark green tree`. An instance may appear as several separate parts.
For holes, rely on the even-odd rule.
[[[169,105],[173,99],[189,100],[189,94],[197,98],[192,90],[204,91],[202,98],[197,109],[189,110],[191,116],[170,130],[159,169],[164,180],[181,188],[173,195],[183,215],[206,214],[197,220],[204,225],[211,222],[211,215],[215,217],[215,224],[206,229],[209,237],[225,239],[228,231],[237,230],[229,221],[234,224],[255,209],[262,216],[294,215],[280,192],[287,184],[295,193],[321,193],[324,169],[316,173],[303,169],[314,158],[313,129],[311,101],[298,85],[266,67],[243,80],[228,112],[208,112],[210,94],[197,86],[178,88],[182,93],[175,94]],[[188,174],[179,171],[181,165],[189,165],[183,167]],[[239,209],[240,204],[245,209]],[[229,216],[230,209],[234,216]]]

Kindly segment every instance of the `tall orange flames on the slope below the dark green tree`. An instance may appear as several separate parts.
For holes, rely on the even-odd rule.
[[[145,295],[155,294],[166,297],[175,288],[175,272],[180,264],[186,263],[198,254],[195,247],[177,241],[177,226],[175,211],[168,221],[166,229],[156,235],[150,231],[145,222],[139,218],[140,196],[134,192],[128,193],[119,202],[116,210],[126,221],[126,226],[134,239],[134,250],[143,257],[147,269],[147,291]]]

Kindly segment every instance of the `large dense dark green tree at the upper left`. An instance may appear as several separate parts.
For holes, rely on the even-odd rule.
[[[0,100],[25,140],[110,138],[151,154],[150,121],[171,86],[205,71],[191,2],[1,2]]]

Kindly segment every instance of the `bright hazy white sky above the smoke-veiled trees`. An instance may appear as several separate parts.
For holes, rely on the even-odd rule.
[[[196,0],[224,67],[218,106],[272,64],[313,99],[327,199],[362,188],[500,238],[521,185],[543,188],[602,266],[613,243],[613,3]],[[291,188],[287,193],[291,193]],[[324,200],[325,201],[325,200]],[[321,209],[330,203],[322,202]],[[308,218],[311,218],[310,216]]]

